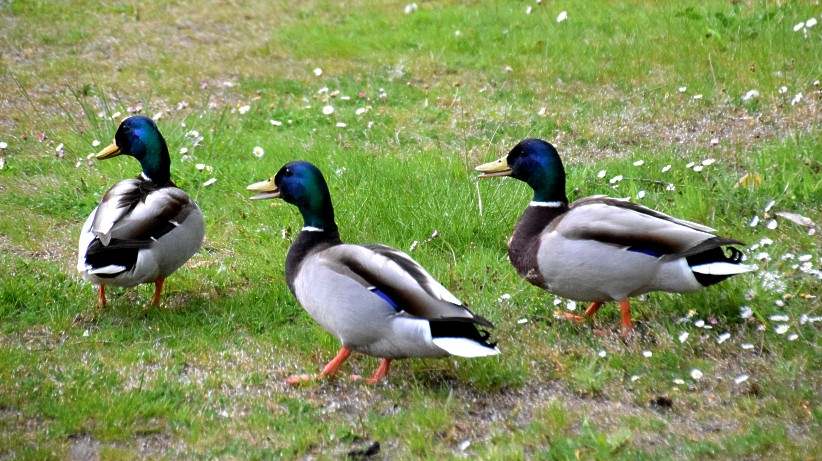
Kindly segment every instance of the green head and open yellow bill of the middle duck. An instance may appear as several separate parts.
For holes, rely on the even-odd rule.
[[[251,184],[247,189],[259,192],[252,200],[281,198],[295,205],[306,226],[326,230],[336,226],[328,184],[319,168],[309,162],[286,163],[273,178]]]

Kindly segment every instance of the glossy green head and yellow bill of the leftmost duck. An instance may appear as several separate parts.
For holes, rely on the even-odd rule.
[[[171,159],[168,146],[154,121],[142,115],[123,120],[114,142],[97,154],[98,160],[118,155],[130,155],[143,167],[143,173],[152,181],[164,183],[169,180]]]

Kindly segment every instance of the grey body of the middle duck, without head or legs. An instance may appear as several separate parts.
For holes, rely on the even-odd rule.
[[[301,232],[289,251],[287,277],[300,304],[344,346],[385,358],[499,353],[476,328],[490,323],[407,254],[342,244],[336,231],[329,239],[321,233]]]

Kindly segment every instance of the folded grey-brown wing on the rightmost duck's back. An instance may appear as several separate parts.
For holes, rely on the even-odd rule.
[[[657,257],[687,256],[704,249],[707,243],[703,242],[708,241],[711,247],[741,243],[717,237],[714,229],[702,224],[608,197],[574,202],[546,231],[569,240],[595,240]]]

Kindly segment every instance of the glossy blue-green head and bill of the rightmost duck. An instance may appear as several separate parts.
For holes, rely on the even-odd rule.
[[[534,190],[534,200],[568,203],[565,195],[565,168],[557,150],[541,139],[526,139],[508,155],[476,167],[480,178],[511,176]]]

